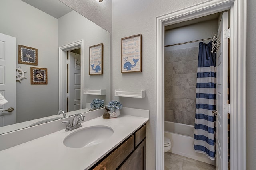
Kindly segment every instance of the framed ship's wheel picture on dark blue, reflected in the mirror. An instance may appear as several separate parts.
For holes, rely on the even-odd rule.
[[[31,84],[47,84],[47,68],[30,67]]]

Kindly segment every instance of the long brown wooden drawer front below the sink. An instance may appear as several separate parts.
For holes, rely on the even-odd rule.
[[[114,150],[106,159],[100,162],[94,170],[115,170],[133,150],[134,135]]]

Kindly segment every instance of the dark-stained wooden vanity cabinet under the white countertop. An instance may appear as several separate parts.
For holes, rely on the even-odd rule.
[[[146,124],[89,170],[146,170]]]

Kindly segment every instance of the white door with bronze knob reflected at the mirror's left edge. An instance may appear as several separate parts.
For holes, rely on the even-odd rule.
[[[2,127],[14,124],[16,121],[16,38],[2,33],[0,33],[0,93],[8,101],[0,106],[0,127]],[[11,111],[11,108],[14,110]]]

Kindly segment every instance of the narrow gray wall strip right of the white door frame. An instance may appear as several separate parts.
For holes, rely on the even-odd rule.
[[[247,0],[247,169],[256,167],[256,1]]]

